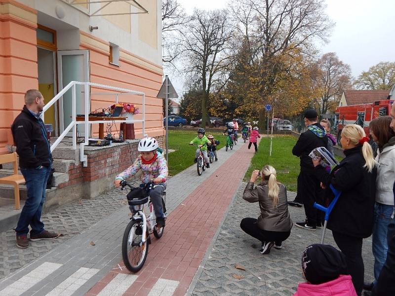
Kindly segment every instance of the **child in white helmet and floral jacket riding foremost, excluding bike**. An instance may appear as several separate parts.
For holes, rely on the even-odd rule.
[[[154,204],[157,226],[164,227],[165,218],[161,194],[166,189],[168,173],[166,159],[158,152],[158,141],[154,138],[141,139],[137,149],[141,152],[140,156],[137,157],[130,167],[115,178],[114,185],[118,187],[123,180],[133,177],[141,170],[143,172],[140,176],[142,183],[147,184],[151,181],[156,183],[156,186],[150,191],[150,198]]]

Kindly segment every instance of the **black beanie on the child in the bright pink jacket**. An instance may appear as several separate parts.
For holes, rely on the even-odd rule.
[[[303,252],[302,269],[306,280],[314,285],[337,279],[347,272],[344,255],[330,245],[310,245]]]

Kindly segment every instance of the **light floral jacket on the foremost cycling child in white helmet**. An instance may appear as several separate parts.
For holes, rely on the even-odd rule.
[[[158,177],[164,178],[164,180],[166,180],[168,174],[166,159],[162,154],[157,152],[157,159],[153,163],[143,164],[141,161],[141,156],[139,156],[134,161],[134,163],[122,173],[120,173],[116,179],[127,179],[133,177],[139,170],[143,172],[143,174],[140,176],[140,180],[144,184],[147,184]],[[163,183],[165,183],[165,181]]]

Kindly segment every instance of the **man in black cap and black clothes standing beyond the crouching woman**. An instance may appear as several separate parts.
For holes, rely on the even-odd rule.
[[[322,194],[320,182],[315,177],[313,161],[309,154],[314,148],[327,147],[328,138],[323,127],[317,122],[318,114],[314,109],[306,111],[304,120],[308,130],[300,135],[292,149],[292,154],[300,157],[298,194],[302,196],[307,221],[296,222],[295,226],[316,230],[316,226],[321,225],[320,217],[322,215],[313,205],[314,202],[322,204]]]

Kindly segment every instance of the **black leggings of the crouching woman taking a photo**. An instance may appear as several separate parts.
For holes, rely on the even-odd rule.
[[[257,240],[263,242],[275,242],[277,246],[281,246],[281,242],[286,240],[291,234],[291,231],[268,231],[262,230],[258,227],[258,220],[255,218],[244,218],[240,222],[241,229],[255,237]]]

